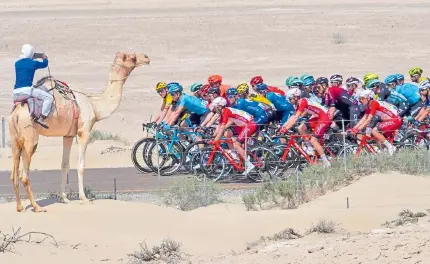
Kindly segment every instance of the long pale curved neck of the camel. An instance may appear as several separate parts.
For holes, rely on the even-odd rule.
[[[118,108],[122,97],[122,87],[129,73],[130,69],[118,65],[112,66],[106,90],[101,95],[91,98],[96,121],[108,118]]]

